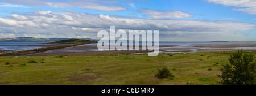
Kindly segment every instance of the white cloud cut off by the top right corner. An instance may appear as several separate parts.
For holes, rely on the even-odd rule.
[[[244,11],[248,14],[256,14],[256,1],[255,0],[207,0],[208,2],[213,2],[216,4],[235,6],[235,7],[245,7],[233,9],[236,11]]]

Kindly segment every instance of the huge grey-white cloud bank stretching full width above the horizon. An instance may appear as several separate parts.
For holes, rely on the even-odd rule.
[[[68,12],[36,11],[30,15],[12,15],[14,19],[0,18],[1,35],[15,34],[15,36],[32,37],[88,37],[97,38],[97,32],[110,29],[123,30],[159,30],[161,39],[183,38],[187,40],[208,40],[213,37],[230,39],[237,31],[254,29],[249,23],[234,21],[205,21],[205,20],[151,20],[142,18],[122,18],[109,15],[92,15]],[[231,37],[233,36],[233,37]],[[5,36],[7,37],[7,36]],[[179,39],[176,39],[179,40]]]

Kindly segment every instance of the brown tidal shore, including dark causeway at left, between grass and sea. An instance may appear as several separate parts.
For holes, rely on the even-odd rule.
[[[0,56],[48,56],[48,55],[105,55],[105,54],[140,54],[149,53],[149,50],[121,50],[121,51],[99,51],[97,45],[92,43],[72,44],[46,44],[46,48],[32,50],[9,50],[0,53]],[[45,44],[37,46],[46,46]],[[15,45],[14,45],[15,46]],[[27,45],[22,45],[27,46]],[[34,45],[29,45],[34,46]],[[140,46],[141,47],[141,46]],[[256,51],[256,43],[239,44],[195,44],[190,46],[181,45],[159,45],[159,53],[197,53],[197,52],[221,52],[221,51]],[[0,52],[4,51],[0,49]],[[154,51],[154,50],[153,50]]]

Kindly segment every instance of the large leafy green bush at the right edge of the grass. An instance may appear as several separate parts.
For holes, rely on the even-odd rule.
[[[250,85],[255,84],[256,62],[254,54],[238,50],[230,55],[230,64],[221,68],[221,84]]]

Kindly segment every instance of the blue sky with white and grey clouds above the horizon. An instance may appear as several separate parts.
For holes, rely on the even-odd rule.
[[[0,38],[93,38],[159,30],[160,41],[256,41],[255,0],[0,0]]]

